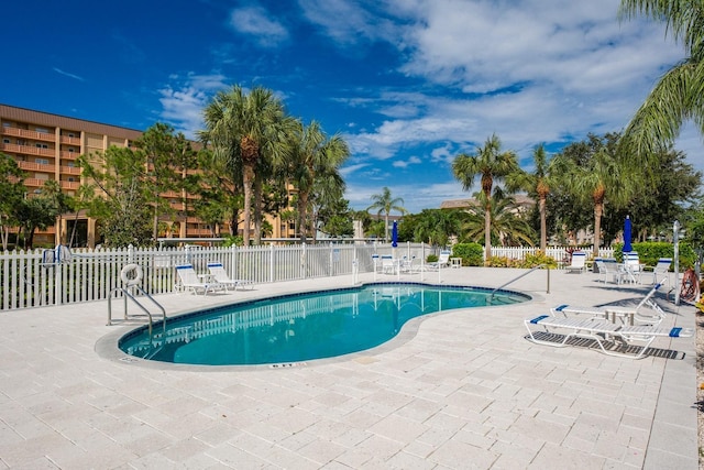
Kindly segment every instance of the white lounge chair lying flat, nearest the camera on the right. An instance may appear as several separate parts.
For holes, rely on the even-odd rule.
[[[605,354],[630,359],[644,358],[657,338],[684,338],[694,335],[693,328],[623,326],[598,318],[557,318],[551,315],[526,318],[524,325],[530,340],[538,345],[564,347],[572,338],[586,338],[596,341]],[[531,326],[539,326],[542,331],[534,331]],[[632,349],[638,347],[640,349]]]

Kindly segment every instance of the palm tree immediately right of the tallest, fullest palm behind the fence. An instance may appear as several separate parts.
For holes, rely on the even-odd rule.
[[[298,227],[300,241],[306,242],[308,231],[308,203],[317,179],[337,174],[337,170],[350,156],[350,149],[341,135],[331,138],[322,131],[317,121],[309,125],[298,122],[292,135],[289,150],[289,177],[298,188]],[[331,182],[341,179],[332,178]],[[311,228],[315,230],[315,227]]]

